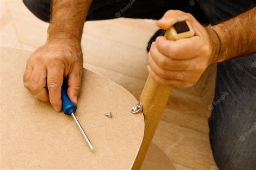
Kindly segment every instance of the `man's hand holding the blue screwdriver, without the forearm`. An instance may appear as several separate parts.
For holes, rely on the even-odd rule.
[[[61,87],[68,78],[68,96],[77,104],[83,73],[83,55],[79,43],[69,40],[49,40],[33,52],[26,62],[24,86],[42,101],[49,101],[53,108],[62,110]],[[48,91],[45,86],[48,86]]]

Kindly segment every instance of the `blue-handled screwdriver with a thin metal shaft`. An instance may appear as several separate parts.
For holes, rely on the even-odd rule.
[[[80,125],[79,121],[76,118],[75,112],[77,110],[77,106],[72,103],[72,101],[69,99],[68,94],[66,93],[66,83],[63,81],[62,85],[62,108],[66,115],[72,115],[73,119],[76,121],[80,131],[83,133],[84,138],[87,141],[87,144],[90,146],[90,149],[93,150],[94,147],[92,146],[89,138],[85,134],[83,127]]]

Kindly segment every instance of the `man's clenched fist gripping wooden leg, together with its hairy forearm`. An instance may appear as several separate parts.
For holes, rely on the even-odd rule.
[[[190,14],[178,10],[165,13],[157,25],[167,30],[177,22],[190,21],[195,36],[175,42],[158,37],[148,54],[151,77],[161,84],[190,87],[208,65],[256,52],[256,8],[226,22],[204,28]]]

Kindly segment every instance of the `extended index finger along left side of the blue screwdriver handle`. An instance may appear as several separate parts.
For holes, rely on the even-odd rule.
[[[47,67],[47,85],[49,91],[50,103],[59,112],[62,110],[61,91],[64,74],[64,64],[61,62],[52,62]]]

